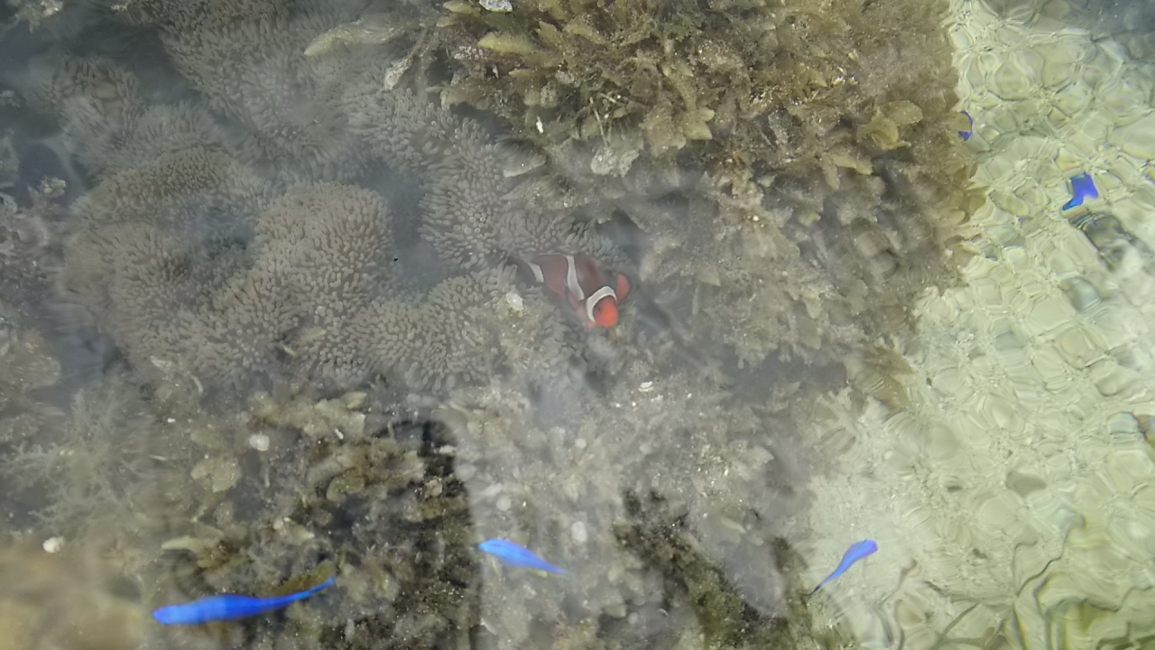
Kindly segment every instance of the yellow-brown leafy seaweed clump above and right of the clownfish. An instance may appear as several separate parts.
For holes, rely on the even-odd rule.
[[[904,305],[951,282],[982,201],[954,141],[945,9],[448,2],[441,98],[541,147],[565,200],[640,226],[641,280],[710,332],[699,345],[829,361],[909,331]]]

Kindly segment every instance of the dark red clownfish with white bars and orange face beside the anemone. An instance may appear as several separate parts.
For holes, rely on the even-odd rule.
[[[587,327],[618,324],[618,303],[629,293],[620,273],[602,273],[587,254],[545,253],[523,263],[534,280],[564,298]]]

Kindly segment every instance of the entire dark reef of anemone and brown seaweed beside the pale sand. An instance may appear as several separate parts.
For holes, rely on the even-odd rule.
[[[102,531],[142,606],[336,570],[224,644],[810,642],[799,424],[900,404],[885,339],[969,254],[938,3],[18,5],[16,183],[66,186],[13,213],[22,328],[107,353],[0,438],[14,538]],[[621,322],[541,253],[625,273]]]

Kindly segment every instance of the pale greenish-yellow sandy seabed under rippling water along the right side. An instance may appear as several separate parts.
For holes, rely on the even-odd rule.
[[[825,607],[863,647],[1137,648],[1155,633],[1153,66],[1141,38],[1074,17],[952,2],[990,198],[981,254],[917,308],[909,408],[834,401],[844,416],[815,431],[854,441],[841,475],[811,486],[807,524],[841,531],[815,535],[815,581],[847,531],[880,547]],[[1063,210],[1081,172],[1100,195]]]

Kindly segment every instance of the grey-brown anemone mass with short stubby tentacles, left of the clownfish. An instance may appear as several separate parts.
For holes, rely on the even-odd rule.
[[[90,73],[53,60],[45,103],[62,118],[70,86],[84,99],[111,86],[104,94],[132,109],[77,120],[96,134],[77,150],[103,167],[73,207],[62,280],[135,367],[219,385],[254,374],[337,385],[385,374],[440,386],[478,379],[508,353],[519,368],[567,356],[556,315],[532,312],[541,338],[502,335],[507,265],[546,251],[609,257],[610,246],[564,213],[528,210],[476,123],[381,91],[372,57],[304,56],[358,7],[134,3],[124,15],[159,30],[208,110],[146,106],[117,65]],[[419,183],[420,234],[469,275],[404,296],[383,198],[316,184],[381,163]],[[545,363],[531,361],[538,353]]]

